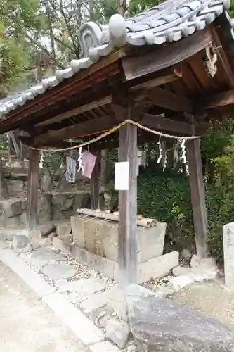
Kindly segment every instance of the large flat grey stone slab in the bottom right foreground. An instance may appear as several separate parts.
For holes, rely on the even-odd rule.
[[[139,351],[234,351],[225,325],[137,285],[126,289],[129,324]]]

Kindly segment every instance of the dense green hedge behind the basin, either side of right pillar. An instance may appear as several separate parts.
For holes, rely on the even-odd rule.
[[[234,217],[234,190],[205,184],[209,249],[223,260],[222,226]],[[138,179],[138,213],[167,222],[165,250],[195,249],[188,177],[176,170],[150,166]]]

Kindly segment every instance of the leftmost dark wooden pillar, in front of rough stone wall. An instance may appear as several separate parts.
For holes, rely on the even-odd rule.
[[[37,227],[37,202],[39,189],[40,152],[29,149],[29,166],[27,181],[27,229],[32,231]]]

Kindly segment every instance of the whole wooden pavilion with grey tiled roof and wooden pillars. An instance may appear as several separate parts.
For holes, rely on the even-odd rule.
[[[175,0],[134,18],[113,15],[108,25],[86,23],[79,30],[82,58],[1,106],[0,132],[20,130],[22,142],[37,148],[70,146],[70,139],[118,125],[126,119],[183,136],[205,133],[209,120],[232,115],[234,104],[234,20],[228,0]],[[126,282],[136,282],[137,145],[126,124],[92,145],[119,147],[129,161],[129,191],[119,191],[119,265]],[[207,212],[199,139],[187,145],[197,254],[206,255]],[[37,225],[39,150],[30,149],[27,222]],[[93,208],[98,177],[92,176]]]

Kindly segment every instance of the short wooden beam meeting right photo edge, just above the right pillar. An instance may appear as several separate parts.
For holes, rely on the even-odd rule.
[[[206,98],[198,99],[194,106],[199,110],[209,110],[234,104],[234,90],[212,94]]]

